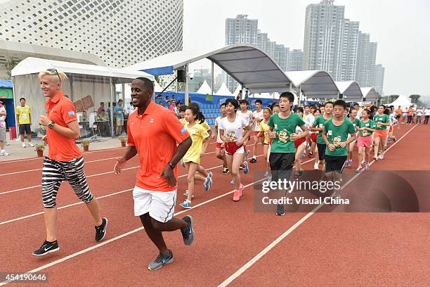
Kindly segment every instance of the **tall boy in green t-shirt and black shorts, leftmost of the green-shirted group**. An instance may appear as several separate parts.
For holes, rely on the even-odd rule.
[[[308,135],[305,122],[299,115],[291,113],[293,102],[294,95],[291,92],[287,91],[280,94],[280,113],[272,115],[268,121],[268,126],[271,127],[269,136],[273,138],[269,162],[272,181],[275,182],[278,180],[289,181],[296,154],[293,142],[296,139],[306,138]],[[296,127],[301,127],[304,132],[295,134]],[[281,191],[281,196],[285,196],[283,191]],[[278,204],[276,214],[285,215],[283,204]]]

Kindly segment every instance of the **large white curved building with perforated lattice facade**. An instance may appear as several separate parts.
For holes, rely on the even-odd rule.
[[[6,58],[122,68],[182,50],[183,0],[0,0]]]

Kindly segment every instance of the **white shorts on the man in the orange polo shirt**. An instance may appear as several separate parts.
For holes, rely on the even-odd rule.
[[[168,222],[174,216],[176,191],[147,191],[134,186],[133,200],[135,216],[149,212],[158,222]]]

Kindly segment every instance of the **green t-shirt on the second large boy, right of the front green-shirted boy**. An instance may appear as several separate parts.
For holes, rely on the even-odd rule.
[[[324,132],[327,134],[327,139],[330,144],[334,144],[336,149],[330,151],[330,149],[325,148],[326,155],[334,156],[346,156],[348,155],[348,146],[341,148],[339,143],[346,141],[348,139],[348,134],[353,134],[356,132],[356,128],[353,126],[352,122],[349,120],[344,120],[342,125],[336,126],[333,124],[333,120],[327,120],[324,124]]]

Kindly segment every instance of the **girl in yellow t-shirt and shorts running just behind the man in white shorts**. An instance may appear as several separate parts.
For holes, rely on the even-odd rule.
[[[206,152],[206,150],[202,150],[202,148],[207,148],[206,142],[209,134],[201,124],[197,124],[197,121],[204,122],[204,116],[195,106],[188,106],[185,111],[185,120],[188,122],[185,128],[188,134],[190,134],[193,144],[183,156],[183,162],[188,172],[188,191],[185,193],[187,199],[180,205],[183,208],[191,208],[191,198],[194,196],[195,180],[204,182],[204,191],[208,191],[210,186],[206,181],[212,180],[211,177],[205,178],[200,173],[196,172],[200,164],[200,156],[202,153]]]

